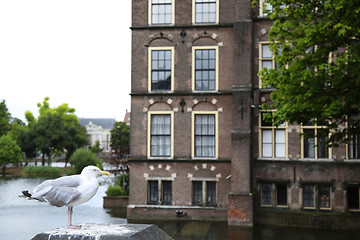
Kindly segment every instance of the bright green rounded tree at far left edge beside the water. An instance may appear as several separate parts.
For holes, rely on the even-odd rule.
[[[6,165],[9,163],[17,165],[22,161],[22,151],[16,141],[8,135],[0,137],[0,165],[2,173],[5,174]]]

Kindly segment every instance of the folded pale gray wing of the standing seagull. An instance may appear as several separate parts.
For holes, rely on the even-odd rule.
[[[80,192],[76,188],[80,183],[79,175],[47,180],[34,189],[31,198],[62,207],[79,198]]]

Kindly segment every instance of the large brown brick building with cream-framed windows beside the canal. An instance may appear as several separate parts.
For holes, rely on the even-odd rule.
[[[358,143],[327,149],[319,136],[299,137],[321,126],[261,121],[272,90],[257,73],[275,64],[262,7],[132,1],[128,219],[311,226],[358,217]]]

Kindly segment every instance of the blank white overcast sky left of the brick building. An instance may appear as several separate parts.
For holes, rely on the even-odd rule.
[[[78,117],[130,111],[131,0],[0,1],[0,101],[38,116],[49,97]]]

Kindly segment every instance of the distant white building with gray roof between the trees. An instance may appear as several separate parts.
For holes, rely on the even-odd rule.
[[[113,128],[116,122],[113,118],[79,118],[80,124],[86,128],[86,132],[89,136],[89,142],[91,146],[94,146],[97,141],[100,143],[100,147],[103,148],[103,152],[110,152],[110,130]]]

